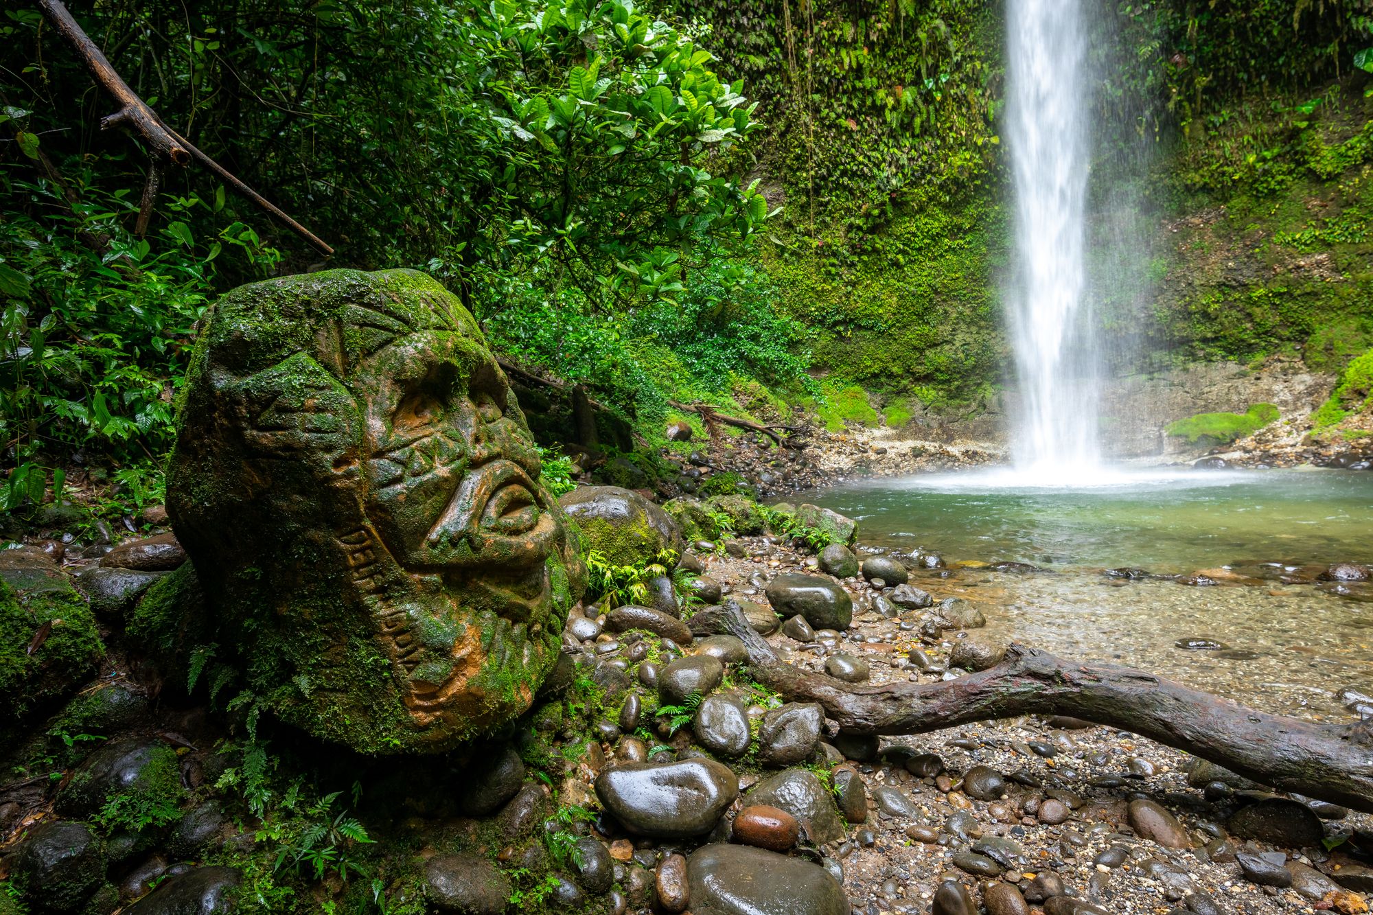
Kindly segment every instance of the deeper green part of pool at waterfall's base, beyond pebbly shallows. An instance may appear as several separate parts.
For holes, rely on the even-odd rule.
[[[1120,471],[1024,486],[1012,470],[798,493],[859,521],[864,543],[945,559],[1181,573],[1237,562],[1373,561],[1373,473]]]

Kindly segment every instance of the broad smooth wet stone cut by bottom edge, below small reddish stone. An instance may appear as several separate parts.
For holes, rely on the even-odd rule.
[[[829,871],[747,845],[706,845],[686,860],[693,915],[849,915]]]

